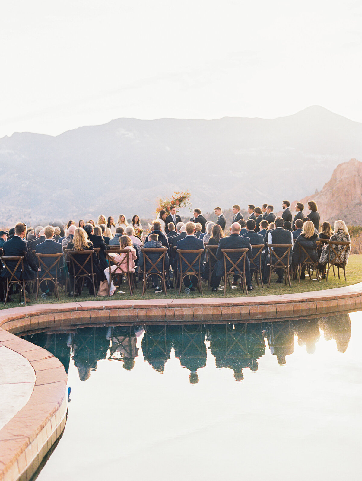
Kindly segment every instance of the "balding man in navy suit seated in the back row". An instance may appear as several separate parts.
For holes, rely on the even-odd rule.
[[[242,219],[244,220],[244,219]],[[224,257],[223,253],[221,252],[221,249],[249,249],[246,259],[245,259],[245,278],[246,278],[246,283],[248,286],[248,290],[252,290],[252,285],[251,285],[251,277],[250,277],[250,263],[249,259],[252,257],[252,250],[251,250],[251,245],[250,245],[250,239],[245,236],[240,236],[240,222],[242,220],[239,220],[239,222],[234,222],[234,224],[231,224],[230,227],[230,235],[229,237],[224,237],[220,239],[219,245],[216,251],[216,258],[218,259],[217,261],[217,266],[216,266],[216,283],[219,285],[220,283],[220,278],[224,274]],[[244,221],[245,222],[245,221]],[[233,262],[236,262],[239,257],[240,253],[234,253],[234,254],[229,254],[230,259]],[[226,269],[230,269],[231,264],[229,261],[226,262]],[[238,266],[240,270],[242,270],[242,265]],[[237,284],[237,279],[238,276],[234,276],[234,285]],[[225,279],[226,281],[226,279]]]

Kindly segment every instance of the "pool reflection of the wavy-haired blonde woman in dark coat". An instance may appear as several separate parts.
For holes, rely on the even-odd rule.
[[[74,365],[81,381],[86,381],[97,369],[97,362],[106,358],[109,348],[106,331],[106,327],[89,327],[77,329],[72,335]]]

